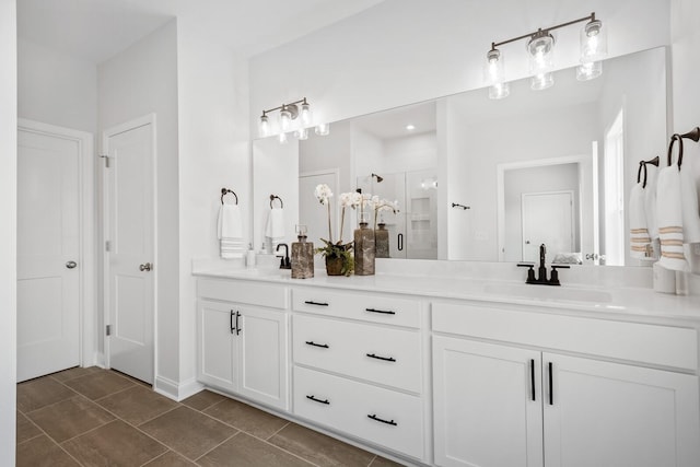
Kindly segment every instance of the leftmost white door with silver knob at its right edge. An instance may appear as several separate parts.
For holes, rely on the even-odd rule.
[[[80,364],[80,148],[18,135],[18,381]]]

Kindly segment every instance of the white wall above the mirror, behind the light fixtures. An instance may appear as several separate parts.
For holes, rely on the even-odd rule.
[[[250,120],[300,96],[319,120],[336,121],[481,87],[491,42],[592,11],[609,26],[611,57],[668,44],[669,0],[386,0],[254,57]],[[557,32],[557,68],[576,65],[579,33]],[[503,47],[509,80],[527,73],[523,49]]]

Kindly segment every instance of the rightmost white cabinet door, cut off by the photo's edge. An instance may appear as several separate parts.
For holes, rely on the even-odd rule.
[[[700,465],[697,376],[548,353],[542,366],[548,467]]]

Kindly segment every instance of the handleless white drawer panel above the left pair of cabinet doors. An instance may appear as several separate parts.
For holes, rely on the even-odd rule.
[[[197,280],[197,296],[271,308],[287,308],[288,306],[285,287],[252,281],[199,279]]]

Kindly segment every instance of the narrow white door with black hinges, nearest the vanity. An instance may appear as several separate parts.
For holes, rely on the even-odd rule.
[[[108,365],[153,383],[153,122],[105,132]],[[176,196],[176,195],[175,195]]]

